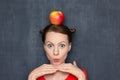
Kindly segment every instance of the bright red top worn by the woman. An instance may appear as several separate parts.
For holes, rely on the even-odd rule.
[[[86,70],[84,68],[82,68],[81,70],[84,72],[86,80],[88,80]],[[45,78],[44,78],[44,76],[42,76],[42,77],[38,77],[36,80],[45,80]],[[78,79],[74,75],[69,74],[68,77],[65,80],[78,80]]]

